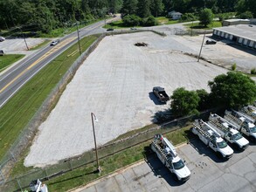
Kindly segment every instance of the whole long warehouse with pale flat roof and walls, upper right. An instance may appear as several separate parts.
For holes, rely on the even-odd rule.
[[[214,28],[212,35],[256,49],[256,25],[253,24],[238,24]]]

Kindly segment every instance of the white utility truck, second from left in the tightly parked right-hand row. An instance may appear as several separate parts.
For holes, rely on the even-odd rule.
[[[240,150],[245,150],[249,146],[249,141],[239,133],[238,128],[229,121],[218,116],[218,114],[210,114],[208,124],[213,127],[225,141],[231,143]]]

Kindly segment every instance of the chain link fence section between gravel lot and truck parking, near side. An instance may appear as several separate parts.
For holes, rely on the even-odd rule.
[[[170,122],[164,123],[162,125],[149,128],[146,131],[128,136],[118,141],[113,141],[101,147],[98,147],[99,159],[103,159],[109,155],[120,153],[129,147],[134,147],[145,141],[152,140],[155,134],[167,134],[176,129],[190,126],[191,122],[197,118],[206,120],[210,113],[215,113],[214,110],[208,110],[201,113],[199,116],[188,116],[177,120],[172,120]],[[48,166],[45,168],[35,168],[30,172],[17,176],[16,178],[9,178],[8,181],[4,182],[4,185],[0,189],[3,191],[22,191],[29,187],[31,181],[35,179],[40,179],[41,181],[49,181],[53,177],[58,175],[63,175],[73,169],[86,166],[89,163],[95,162],[96,156],[95,151],[90,150],[84,154],[73,157],[72,159],[67,159],[64,161],[59,161],[58,164]]]

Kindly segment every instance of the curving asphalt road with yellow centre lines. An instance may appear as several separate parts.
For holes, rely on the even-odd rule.
[[[101,28],[105,21],[91,24],[80,29],[80,38],[87,35],[102,33]],[[56,58],[63,51],[66,51],[71,45],[78,41],[77,31],[60,39],[60,43],[55,46],[47,46],[41,51],[31,55],[21,61],[18,65],[13,66],[8,72],[0,76],[0,108],[24,86],[35,74],[37,74],[45,65],[49,64],[52,59]]]

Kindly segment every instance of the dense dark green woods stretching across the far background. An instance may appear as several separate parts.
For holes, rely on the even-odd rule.
[[[33,26],[34,31],[51,32],[76,21],[89,22],[108,13],[148,18],[167,16],[171,10],[199,14],[237,11],[256,17],[255,0],[1,0],[0,30]],[[147,21],[146,21],[147,22]]]

